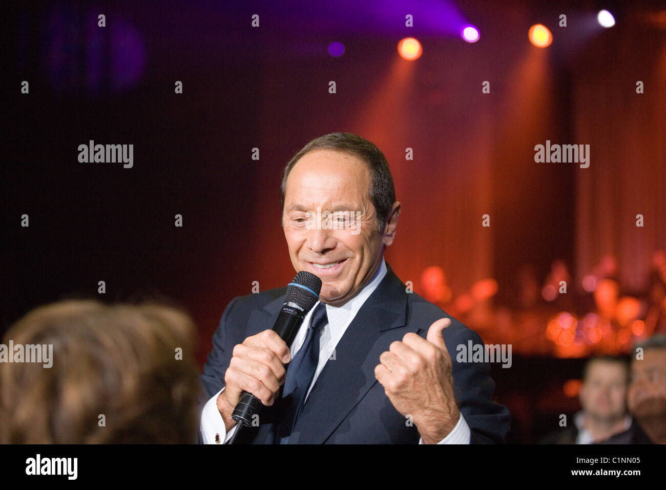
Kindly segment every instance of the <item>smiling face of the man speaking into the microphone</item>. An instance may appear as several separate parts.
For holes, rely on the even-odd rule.
[[[294,269],[320,277],[319,298],[334,305],[372,279],[394,237],[378,229],[367,165],[324,149],[306,153],[290,171],[282,227]]]

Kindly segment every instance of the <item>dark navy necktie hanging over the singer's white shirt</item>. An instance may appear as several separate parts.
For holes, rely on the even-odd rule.
[[[319,363],[319,337],[322,328],[326,324],[328,324],[326,305],[319,303],[312,312],[310,327],[308,327],[308,334],[305,337],[305,341],[287,367],[284,387],[282,388],[282,398],[291,396],[291,403],[288,410],[286,410],[282,423],[278,427],[276,443],[286,444],[289,441],[289,435],[294,428],[296,418],[303,407],[305,395],[308,393],[308,388],[317,370]]]

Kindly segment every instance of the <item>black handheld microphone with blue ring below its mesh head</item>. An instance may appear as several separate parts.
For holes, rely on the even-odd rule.
[[[321,290],[322,280],[307,271],[300,271],[287,285],[284,304],[273,325],[273,331],[280,335],[280,339],[284,340],[287,347],[291,347],[305,315],[319,301]],[[262,406],[261,400],[252,393],[247,391],[241,393],[238,404],[231,414],[231,418],[240,426],[236,428],[236,433],[243,425],[251,425],[252,417],[259,413]]]

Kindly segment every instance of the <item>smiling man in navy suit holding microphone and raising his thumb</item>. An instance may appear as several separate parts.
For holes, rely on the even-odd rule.
[[[322,279],[320,301],[290,348],[270,330],[284,288],[228,305],[202,375],[202,441],[232,437],[245,390],[264,407],[243,442],[503,442],[510,415],[492,401],[490,366],[456,355],[480,337],[384,261],[400,203],[382,152],[349,133],[316,138],[286,166],[281,193],[292,265]]]

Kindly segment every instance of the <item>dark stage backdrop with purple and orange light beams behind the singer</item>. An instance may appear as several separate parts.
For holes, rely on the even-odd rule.
[[[602,7],[615,27],[596,23]],[[478,42],[460,39],[466,22]],[[551,46],[529,43],[535,23]],[[666,330],[659,2],[56,1],[18,5],[7,25],[0,333],[59,299],[169,299],[194,317],[202,365],[232,298],[294,276],[281,171],[334,131],[389,161],[398,276],[513,346],[511,368],[493,367],[509,441],[577,409],[585,356]],[[416,61],[396,50],[408,36]],[[133,144],[133,167],[79,163],[89,140]],[[589,144],[589,168],[535,163],[546,140]]]

